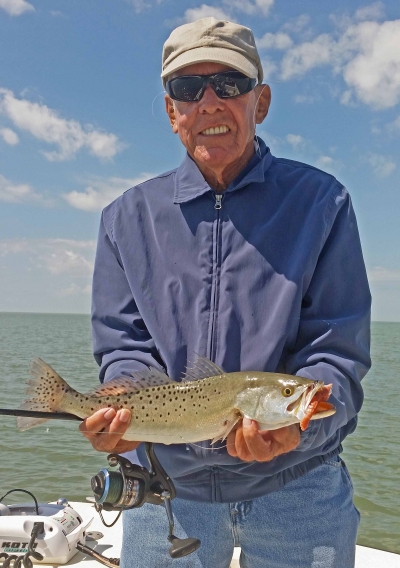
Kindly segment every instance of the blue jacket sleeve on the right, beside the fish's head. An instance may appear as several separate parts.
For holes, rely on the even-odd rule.
[[[336,413],[310,422],[298,450],[328,448],[356,425],[361,379],[371,366],[371,297],[356,218],[345,188],[337,188],[326,219],[324,244],[303,296],[296,345],[287,371],[332,383]]]

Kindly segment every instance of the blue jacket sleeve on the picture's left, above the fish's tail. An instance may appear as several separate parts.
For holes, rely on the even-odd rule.
[[[130,376],[162,361],[133,298],[118,249],[103,211],[97,243],[92,292],[93,352],[100,381]]]

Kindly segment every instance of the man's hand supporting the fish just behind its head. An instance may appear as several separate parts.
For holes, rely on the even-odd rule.
[[[243,461],[268,462],[276,456],[294,450],[300,443],[298,424],[277,430],[259,430],[255,420],[243,418],[236,430],[227,438],[227,451],[230,456]]]

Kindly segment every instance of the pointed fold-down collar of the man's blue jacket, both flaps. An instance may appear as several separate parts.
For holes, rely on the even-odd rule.
[[[257,140],[261,159],[259,153],[254,154],[250,162],[226,188],[225,192],[236,191],[250,183],[263,183],[265,181],[266,172],[272,162],[272,156],[263,140],[261,138],[257,138]],[[207,191],[214,190],[208,185],[194,160],[186,153],[182,164],[176,171],[174,203],[186,203]]]

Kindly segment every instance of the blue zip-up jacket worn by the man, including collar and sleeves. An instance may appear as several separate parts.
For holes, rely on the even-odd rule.
[[[336,414],[311,422],[300,446],[268,463],[243,462],[208,442],[157,444],[187,499],[252,499],[340,452],[370,366],[370,293],[347,190],[260,147],[262,158],[222,199],[187,155],[102,215],[93,279],[101,381],[148,365],[178,380],[197,353],[227,372],[333,383]]]

